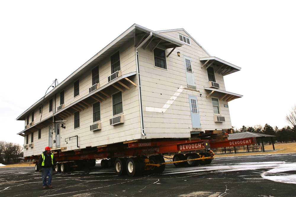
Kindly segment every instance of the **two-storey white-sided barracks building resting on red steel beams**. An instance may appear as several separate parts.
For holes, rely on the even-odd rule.
[[[223,76],[240,69],[184,29],[134,24],[17,117],[24,156],[230,131],[228,102],[242,95]]]

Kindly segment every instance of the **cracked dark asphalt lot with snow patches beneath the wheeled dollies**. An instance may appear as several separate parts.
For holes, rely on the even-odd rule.
[[[117,176],[99,164],[91,169],[54,173],[43,189],[32,167],[0,168],[0,196],[295,196],[296,154],[215,158],[210,165],[176,168],[160,174]]]

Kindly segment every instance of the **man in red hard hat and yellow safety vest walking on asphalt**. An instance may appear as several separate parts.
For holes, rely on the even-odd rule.
[[[43,188],[52,188],[52,170],[55,169],[56,160],[54,154],[52,154],[48,146],[45,147],[45,151],[41,154],[38,160],[39,171],[42,172],[42,184]],[[48,180],[46,182],[46,177]]]

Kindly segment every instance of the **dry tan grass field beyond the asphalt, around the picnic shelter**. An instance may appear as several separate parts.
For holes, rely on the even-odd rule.
[[[257,154],[280,154],[280,153],[296,153],[296,142],[290,142],[290,143],[276,143],[274,144],[275,150],[273,150],[272,144],[266,144],[264,145],[265,152],[259,151],[259,152],[246,152],[243,149],[239,150],[236,154],[215,154],[214,157],[234,157],[234,156],[243,156],[243,155],[257,155]],[[31,162],[25,162],[25,163],[17,163],[17,164],[11,164],[6,166],[0,166],[1,167],[28,167],[32,166],[34,167],[35,164]]]

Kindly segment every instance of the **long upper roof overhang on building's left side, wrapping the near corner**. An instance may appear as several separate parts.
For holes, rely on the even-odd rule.
[[[141,41],[148,38],[150,33],[152,34],[151,38],[147,41],[147,43],[153,43],[155,46],[162,45],[164,48],[173,48],[180,47],[184,45],[184,43],[169,38],[165,35],[162,35],[158,32],[149,30],[145,27],[142,27],[137,24],[133,24],[130,28],[128,28],[125,32],[123,32],[120,36],[118,36],[115,40],[113,40],[110,44],[104,47],[99,53],[89,59],[86,63],[80,66],[76,71],[74,71],[70,76],[68,76],[64,81],[58,84],[54,89],[52,89],[47,95],[45,95],[44,99],[47,97],[52,97],[54,94],[62,91],[67,85],[73,84],[75,80],[77,80],[85,71],[92,69],[94,66],[98,65],[100,61],[104,58],[109,57],[112,53],[118,50],[122,45],[124,45],[129,40],[137,37],[139,38],[139,43],[136,43],[136,47],[140,45]],[[146,46],[141,46],[146,48]],[[173,50],[172,50],[173,51]],[[46,87],[45,87],[46,89]],[[34,103],[30,108],[25,110],[16,120],[25,120],[25,115],[30,112],[32,109],[41,105],[43,102],[43,97]]]

